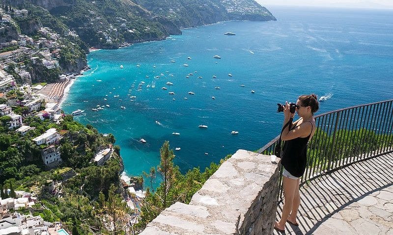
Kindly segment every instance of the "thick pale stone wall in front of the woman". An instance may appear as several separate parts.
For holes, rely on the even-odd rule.
[[[173,204],[140,235],[271,235],[278,186],[279,159],[238,150],[189,205]]]

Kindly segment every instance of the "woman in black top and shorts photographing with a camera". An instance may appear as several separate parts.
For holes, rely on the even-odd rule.
[[[291,128],[284,128],[281,140],[285,141],[281,165],[283,166],[282,187],[284,189],[284,205],[281,220],[276,222],[274,228],[283,233],[285,222],[299,226],[296,214],[300,206],[299,183],[307,164],[307,143],[314,135],[316,126],[314,113],[319,104],[315,94],[301,95],[296,102],[296,112],[300,117],[292,123]],[[295,114],[290,113],[290,105],[284,106],[284,126],[293,120]]]

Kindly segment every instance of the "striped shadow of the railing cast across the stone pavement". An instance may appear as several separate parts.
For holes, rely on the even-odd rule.
[[[351,203],[393,185],[393,153],[365,159],[311,180],[300,188],[300,227],[290,225],[290,234],[311,235],[327,219]],[[281,218],[282,202],[277,210]],[[287,223],[287,226],[289,224]],[[288,231],[288,228],[286,229]],[[274,234],[280,234],[277,231]],[[284,233],[282,233],[284,234]]]

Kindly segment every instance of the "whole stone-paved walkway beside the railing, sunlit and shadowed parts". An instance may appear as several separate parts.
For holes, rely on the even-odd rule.
[[[322,176],[300,194],[300,226],[287,223],[287,235],[393,235],[393,153]],[[281,212],[282,203],[277,220]]]

